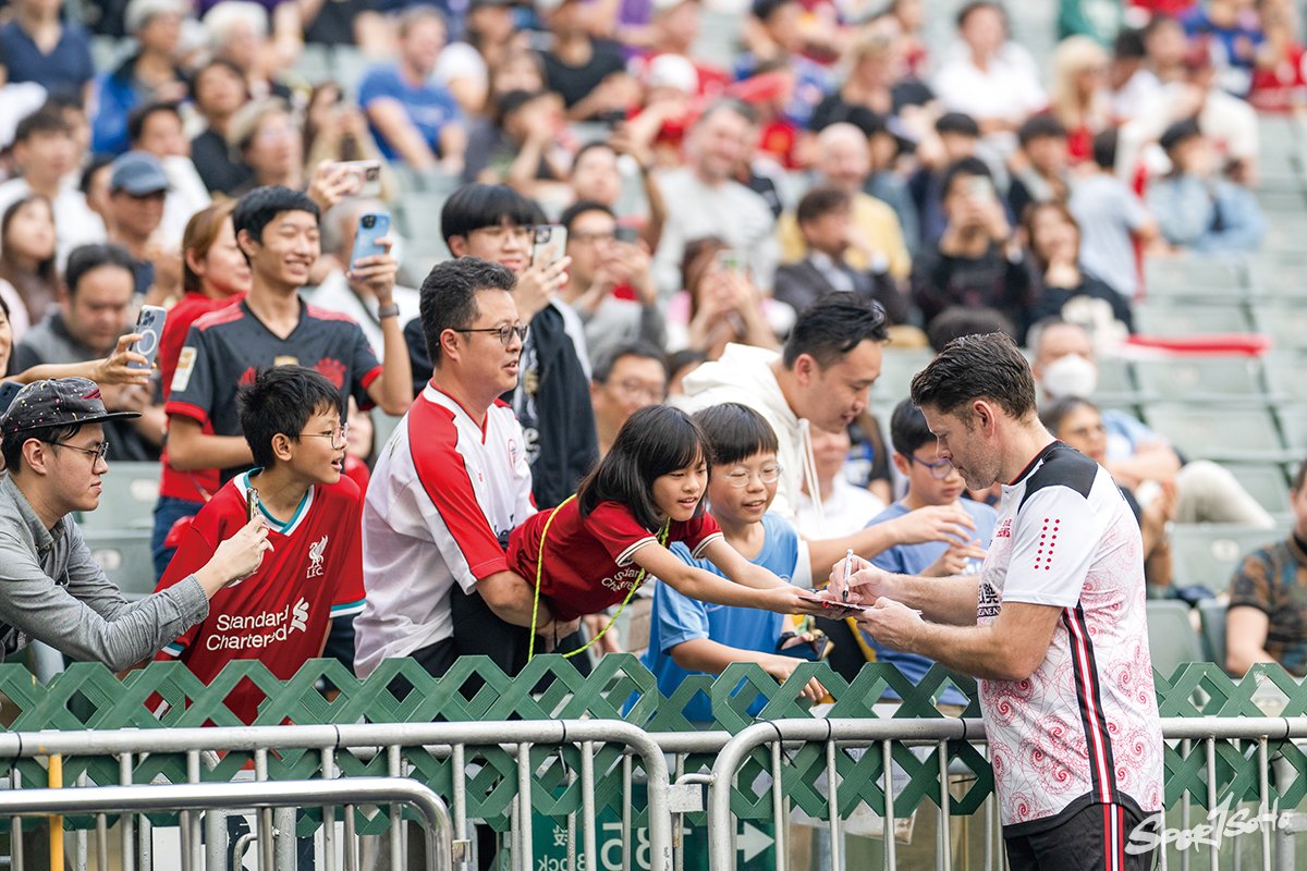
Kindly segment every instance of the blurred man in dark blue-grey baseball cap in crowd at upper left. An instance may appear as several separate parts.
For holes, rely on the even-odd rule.
[[[154,286],[157,276],[154,261],[159,259],[159,252],[150,240],[163,221],[167,191],[167,174],[153,154],[128,151],[110,166],[108,240],[127,248],[132,255],[137,296],[144,296]],[[176,272],[173,283],[180,285],[180,262],[171,272]],[[178,287],[162,290],[178,290]],[[167,295],[162,293],[158,299],[165,299]]]

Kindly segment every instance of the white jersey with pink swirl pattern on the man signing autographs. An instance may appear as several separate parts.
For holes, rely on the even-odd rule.
[[[982,680],[1002,824],[1022,834],[1087,804],[1162,808],[1138,524],[1107,470],[1053,441],[1002,487],[978,623],[1009,602],[1061,609],[1025,680]]]

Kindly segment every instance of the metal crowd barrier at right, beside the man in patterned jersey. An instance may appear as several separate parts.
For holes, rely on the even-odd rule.
[[[1297,776],[1297,769],[1283,755],[1272,755],[1272,742],[1294,742],[1307,739],[1307,717],[1210,717],[1210,718],[1163,718],[1162,734],[1166,742],[1178,747],[1183,757],[1188,757],[1195,744],[1201,743],[1205,751],[1206,772],[1206,806],[1209,817],[1195,824],[1192,819],[1191,803],[1180,803],[1180,829],[1195,832],[1196,825],[1212,824],[1212,808],[1218,808],[1218,742],[1249,740],[1256,742],[1257,755],[1257,819],[1261,824],[1256,827],[1260,832],[1260,867],[1263,871],[1289,871],[1295,867],[1294,836],[1307,831],[1307,815],[1293,811],[1278,812],[1270,804],[1270,774],[1274,768],[1280,772],[1282,782],[1291,782]],[[704,778],[708,784],[708,850],[711,871],[735,871],[736,850],[736,819],[731,810],[732,793],[736,789],[736,780],[741,767],[750,755],[759,747],[770,750],[771,774],[771,810],[772,823],[776,831],[776,871],[786,871],[788,858],[786,857],[782,841],[786,832],[786,823],[789,817],[788,802],[783,784],[784,753],[787,746],[792,750],[796,744],[821,743],[825,748],[826,774],[827,774],[827,814],[831,863],[836,871],[844,867],[840,855],[840,815],[834,812],[839,803],[839,777],[836,774],[836,753],[846,750],[867,748],[881,753],[884,790],[886,797],[894,795],[891,751],[894,744],[936,744],[940,750],[940,807],[948,808],[950,803],[948,778],[948,743],[953,740],[967,740],[984,743],[984,725],[980,720],[778,720],[759,722],[737,733],[718,753],[712,767],[712,773]],[[987,817],[991,814],[993,797],[987,799]],[[1227,808],[1233,810],[1233,808]],[[950,837],[948,832],[948,815],[941,814],[938,820],[940,831],[936,833],[938,846],[936,867],[944,871],[953,868],[950,851]],[[1163,816],[1165,820],[1165,816]],[[987,819],[988,821],[988,819]],[[1226,827],[1230,820],[1226,816],[1216,817],[1217,827]],[[885,832],[894,831],[894,802],[885,802],[884,814]],[[991,847],[989,831],[987,827],[984,867],[987,871],[996,867],[996,862],[1002,862],[1001,844]],[[1274,838],[1272,838],[1274,832]],[[1247,832],[1242,832],[1247,833]],[[1158,833],[1161,838],[1161,833]],[[1216,871],[1219,867],[1219,840],[1221,832],[1210,831],[1201,837],[1216,838],[1217,845],[1206,850],[1205,864]],[[1274,847],[1273,847],[1274,841]],[[898,867],[895,858],[895,838],[886,836],[885,868]],[[1180,853],[1180,867],[1183,871],[1191,868],[1189,851]],[[1235,845],[1234,867],[1242,867],[1242,854]],[[1167,850],[1163,846],[1158,850],[1159,871],[1167,871]]]

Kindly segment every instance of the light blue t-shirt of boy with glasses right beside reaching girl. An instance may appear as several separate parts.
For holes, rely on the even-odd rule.
[[[762,529],[762,550],[749,562],[789,581],[799,564],[799,534],[776,515],[763,515]],[[680,542],[672,545],[672,552],[687,565],[725,577],[708,560],[691,558],[690,551]],[[728,648],[775,653],[784,619],[782,614],[758,609],[710,605],[682,595],[667,584],[659,584],[654,592],[650,646],[642,661],[657,678],[659,692],[670,696],[689,675],[704,674],[676,665],[669,653],[672,648],[695,639],[712,639]],[[749,708],[749,714],[757,716],[765,703],[765,699],[758,699]],[[712,706],[701,693],[685,706],[685,716],[691,722],[712,722]]]

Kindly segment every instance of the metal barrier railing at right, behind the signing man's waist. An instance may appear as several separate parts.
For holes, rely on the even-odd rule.
[[[1307,829],[1298,815],[1286,814],[1281,816],[1281,800],[1302,799],[1302,770],[1295,767],[1294,760],[1302,757],[1300,751],[1294,746],[1295,740],[1307,740],[1307,718],[1286,717],[1247,717],[1247,718],[1202,718],[1182,720],[1166,718],[1162,721],[1162,734],[1166,739],[1167,772],[1174,774],[1178,769],[1187,769],[1191,774],[1202,772],[1202,786],[1205,789],[1205,807],[1209,816],[1205,823],[1193,824],[1191,803],[1180,806],[1179,827],[1174,829],[1174,836],[1165,831],[1165,816],[1155,820],[1154,825],[1134,836],[1140,846],[1159,845],[1158,867],[1166,871],[1168,866],[1166,845],[1171,841],[1189,837],[1208,850],[1208,863],[1213,870],[1219,864],[1221,841],[1227,834],[1235,837],[1257,832],[1260,836],[1260,867],[1264,871],[1276,868],[1287,870],[1295,867],[1293,837],[1299,831]],[[895,767],[910,761],[916,763],[925,770],[933,770],[938,776],[938,790],[931,797],[941,808],[953,808],[957,799],[949,790],[949,755],[950,742],[967,742],[968,744],[984,743],[984,725],[979,720],[935,720],[935,721],[774,721],[755,723],[735,738],[732,738],[718,755],[708,778],[708,845],[711,871],[732,871],[736,867],[736,811],[744,810],[746,814],[750,804],[742,800],[740,787],[740,773],[746,770],[750,760],[757,761],[758,751],[766,750],[763,764],[770,774],[765,784],[765,790],[770,793],[770,810],[772,823],[778,832],[783,832],[789,819],[789,807],[795,797],[795,789],[802,780],[795,777],[795,770],[787,768],[787,763],[793,761],[804,752],[818,746],[819,756],[825,760],[826,791],[823,800],[825,817],[829,821],[829,834],[831,844],[831,867],[843,867],[840,859],[840,820],[847,815],[847,802],[840,797],[839,767],[836,760],[851,750],[869,751],[864,760],[869,760],[870,769],[865,772],[872,781],[880,781],[881,787],[872,808],[884,820],[884,831],[893,832],[895,824],[895,806],[906,800],[915,806],[912,797],[906,794],[903,784],[895,782]],[[1248,742],[1252,752],[1240,750],[1235,742]],[[933,744],[935,752],[931,757],[920,760],[906,753],[910,744]],[[1193,753],[1193,746],[1201,744],[1201,753]],[[787,755],[788,752],[788,755]],[[1247,753],[1247,755],[1246,755]],[[1256,780],[1247,782],[1240,774],[1233,777],[1223,776],[1221,759],[1240,759],[1252,761],[1256,768]],[[1193,765],[1192,760],[1200,760],[1200,765]],[[1272,776],[1274,769],[1274,777]],[[919,769],[920,770],[920,769]],[[1175,777],[1167,777],[1167,795],[1175,790]],[[886,797],[893,797],[887,800]],[[863,800],[863,799],[860,799]],[[1234,804],[1243,802],[1256,802],[1255,811],[1246,808],[1243,815],[1234,808]],[[1291,807],[1291,806],[1290,806]],[[1210,814],[1214,811],[1214,814]],[[1206,829],[1199,827],[1208,827]],[[1272,834],[1276,836],[1276,849],[1272,849]],[[948,817],[938,817],[938,832],[936,833],[938,854],[936,867],[953,868],[951,842],[948,833]],[[884,838],[885,867],[895,868],[895,838]],[[778,845],[778,853],[782,851]],[[1000,850],[992,850],[988,833],[985,840],[984,867],[995,867],[995,861],[1001,858]],[[1182,867],[1189,867],[1189,854],[1182,851]],[[1235,867],[1240,867],[1242,853],[1235,853]],[[778,866],[780,867],[780,866]]]

